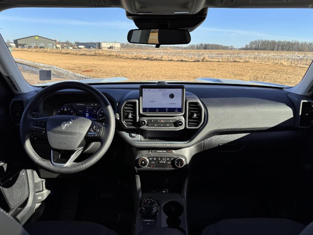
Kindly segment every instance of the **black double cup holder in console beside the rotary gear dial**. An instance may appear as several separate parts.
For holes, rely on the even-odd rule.
[[[167,227],[176,228],[185,233],[185,230],[180,227],[181,220],[179,218],[184,212],[184,207],[182,206],[182,204],[177,201],[169,201],[164,204],[163,212],[165,215],[167,215]]]

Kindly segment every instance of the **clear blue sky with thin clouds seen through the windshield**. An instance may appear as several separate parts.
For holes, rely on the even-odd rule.
[[[255,39],[313,41],[313,9],[210,8],[191,44],[242,47]],[[39,35],[70,42],[127,42],[135,29],[120,8],[14,8],[0,12],[4,40]]]

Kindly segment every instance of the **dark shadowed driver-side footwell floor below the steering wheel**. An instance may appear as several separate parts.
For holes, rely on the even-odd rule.
[[[103,179],[105,177],[105,180]],[[131,178],[110,174],[100,178],[53,179],[53,194],[44,203],[40,221],[88,221],[131,234],[134,205]]]

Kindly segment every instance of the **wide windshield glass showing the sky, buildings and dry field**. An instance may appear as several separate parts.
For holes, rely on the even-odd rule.
[[[89,79],[295,86],[313,59],[304,23],[312,20],[311,9],[210,8],[189,44],[155,48],[127,43],[136,27],[120,8],[14,8],[0,13],[0,33],[31,85]]]

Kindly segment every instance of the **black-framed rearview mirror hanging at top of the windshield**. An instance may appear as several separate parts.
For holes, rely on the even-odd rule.
[[[139,44],[175,45],[188,44],[191,37],[183,29],[132,29],[128,32],[127,40]]]

